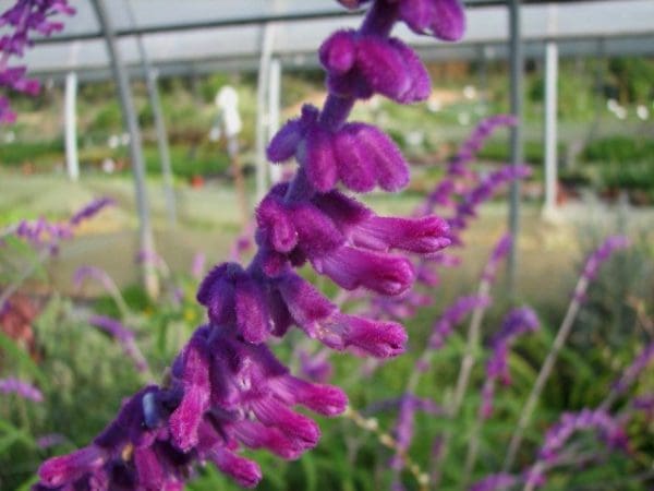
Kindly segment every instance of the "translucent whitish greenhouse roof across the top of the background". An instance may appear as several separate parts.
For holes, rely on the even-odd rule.
[[[133,16],[125,8],[130,2]],[[0,8],[8,3],[0,0]],[[90,2],[75,2],[77,14],[61,35],[40,39],[27,64],[35,74],[70,71],[83,77],[109,77],[109,58]],[[129,67],[140,64],[141,36],[160,73],[252,70],[264,39],[286,68],[313,67],[328,33],[354,26],[358,15],[332,0],[112,0],[106,2]],[[504,58],[508,43],[505,1],[470,0],[468,35],[448,45],[402,33],[432,59]],[[522,33],[528,57],[540,56],[543,41],[557,40],[561,55],[654,53],[654,2],[651,0],[524,1]],[[174,35],[171,35],[171,34]],[[267,33],[267,34],[266,34]]]

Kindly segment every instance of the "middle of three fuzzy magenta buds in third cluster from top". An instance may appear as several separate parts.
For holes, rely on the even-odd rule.
[[[354,132],[346,125],[336,136],[334,148],[338,163],[338,173],[342,183],[360,193],[372,191],[375,187],[375,172],[372,161],[366,158],[359,145]]]

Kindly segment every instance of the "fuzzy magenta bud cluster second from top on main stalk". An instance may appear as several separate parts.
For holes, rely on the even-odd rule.
[[[337,96],[367,99],[377,93],[400,104],[429,96],[427,71],[399,39],[339,31],[323,44],[319,57]]]

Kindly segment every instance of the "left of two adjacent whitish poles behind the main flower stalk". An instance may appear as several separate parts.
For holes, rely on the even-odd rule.
[[[268,111],[266,110],[268,83],[270,81],[270,59],[275,40],[275,27],[267,23],[263,27],[262,53],[256,88],[256,201],[261,201],[267,189],[267,159],[266,159],[266,125]]]

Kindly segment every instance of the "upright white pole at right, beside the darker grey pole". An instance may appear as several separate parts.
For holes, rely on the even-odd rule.
[[[555,41],[545,45],[545,207],[543,215],[556,213],[557,183],[557,80],[558,46]]]

